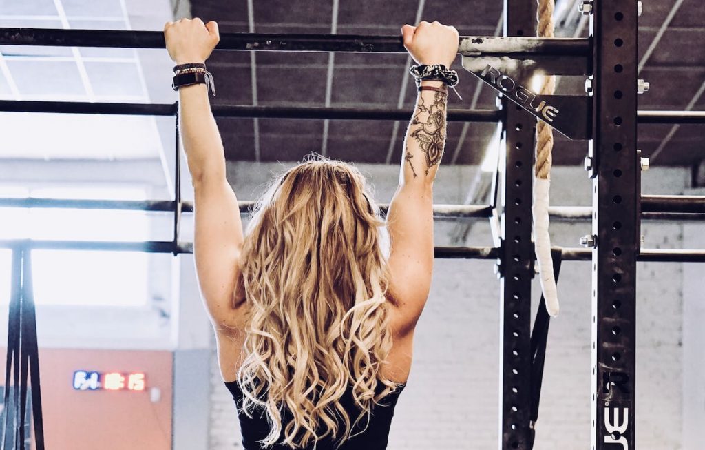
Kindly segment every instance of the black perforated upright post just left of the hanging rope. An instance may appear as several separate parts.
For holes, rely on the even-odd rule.
[[[534,1],[505,0],[504,35],[536,35]],[[465,58],[463,58],[465,60]],[[501,183],[500,448],[531,445],[531,284],[534,126],[531,114],[503,97],[505,157]]]

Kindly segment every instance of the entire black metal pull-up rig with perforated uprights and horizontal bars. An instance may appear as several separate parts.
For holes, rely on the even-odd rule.
[[[589,132],[594,176],[594,202],[591,209],[553,208],[556,219],[592,219],[597,246],[593,250],[554,248],[560,260],[592,261],[593,272],[593,449],[611,450],[625,442],[635,446],[635,274],[636,262],[705,262],[705,250],[643,250],[639,243],[639,219],[705,219],[705,197],[640,196],[639,162],[636,150],[637,123],[705,123],[702,111],[638,111],[636,104],[637,6],[634,0],[594,0],[590,39],[536,39],[512,37],[533,35],[534,2],[505,0],[505,37],[463,37],[460,53],[466,59],[518,61],[531,56],[524,71],[537,65],[580,73],[594,68],[594,95],[581,97],[581,111],[590,112],[584,130]],[[620,13],[620,14],[616,14]],[[620,16],[620,19],[616,19]],[[615,23],[618,20],[619,23]],[[618,44],[617,39],[620,39]],[[53,45],[81,47],[164,48],[161,32],[111,30],[46,30],[0,28],[0,44]],[[345,35],[254,35],[221,36],[219,49],[258,51],[353,51],[405,53],[400,37]],[[560,56],[560,58],[557,58]],[[575,68],[565,61],[591,61]],[[500,63],[498,63],[500,64]],[[622,70],[616,71],[620,64]],[[470,69],[469,69],[470,70]],[[558,69],[556,69],[558,70]],[[501,94],[508,90],[494,85]],[[623,95],[616,99],[614,92]],[[451,110],[449,121],[503,123],[505,159],[501,182],[501,245],[435,249],[441,258],[497,260],[501,276],[501,437],[502,449],[531,449],[533,421],[536,420],[540,379],[532,379],[535,346],[529,337],[531,279],[534,250],[531,242],[531,186],[534,142],[534,116],[503,98],[498,110]],[[557,97],[554,97],[557,98]],[[517,102],[517,99],[511,99]],[[570,102],[566,100],[566,107]],[[552,100],[551,100],[552,101]],[[522,105],[525,107],[525,105]],[[30,250],[73,249],[142,251],[149,253],[191,253],[192,243],[179,241],[180,219],[193,211],[190,202],[180,198],[180,155],[178,104],[94,104],[83,102],[0,101],[0,111],[33,111],[82,114],[141,114],[176,116],[176,183],[174,200],[145,202],[104,200],[0,199],[0,207],[64,207],[83,209],[137,209],[171,212],[172,241],[0,241],[0,248],[16,254]],[[333,109],[252,107],[214,105],[215,116],[260,118],[332,118],[366,120],[408,119],[399,109]],[[533,111],[534,115],[536,111]],[[496,179],[498,176],[496,174]],[[382,205],[386,209],[386,205]],[[241,212],[252,202],[241,202]],[[496,205],[436,205],[439,218],[488,218],[497,214]],[[13,282],[17,281],[13,274]],[[31,315],[30,315],[31,316]],[[27,316],[34,323],[33,316]],[[546,323],[547,330],[547,323]],[[541,359],[541,358],[539,358]],[[534,370],[535,372],[535,370]],[[534,373],[534,377],[537,377]],[[34,380],[32,379],[32,382]],[[38,381],[38,377],[37,377]],[[37,386],[38,391],[38,386]],[[534,396],[531,395],[532,391]],[[624,414],[628,408],[628,413]],[[605,415],[605,411],[609,411]],[[615,416],[619,412],[619,417]],[[41,415],[39,417],[41,419]],[[621,427],[627,420],[627,425]],[[39,426],[41,431],[41,425]],[[617,434],[618,433],[618,434]]]

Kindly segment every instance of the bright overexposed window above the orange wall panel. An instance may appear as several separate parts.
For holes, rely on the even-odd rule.
[[[4,187],[1,196],[20,196]],[[54,187],[25,189],[25,196],[144,200],[144,189]],[[14,195],[13,195],[14,194]],[[0,208],[0,239],[144,241],[150,221],[142,211]],[[149,257],[140,252],[33,250],[32,279],[37,305],[147,304]],[[0,251],[0,303],[11,293],[11,251]]]

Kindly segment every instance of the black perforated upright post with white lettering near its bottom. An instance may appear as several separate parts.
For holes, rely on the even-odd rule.
[[[594,0],[592,448],[635,448],[637,2]],[[620,92],[621,95],[618,95]],[[617,98],[620,97],[620,98]]]

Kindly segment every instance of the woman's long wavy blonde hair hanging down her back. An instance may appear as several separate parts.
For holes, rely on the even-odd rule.
[[[338,445],[398,384],[381,375],[392,347],[389,269],[379,209],[354,166],[317,155],[257,203],[241,258],[248,305],[242,408],[264,408],[262,441]],[[360,408],[341,405],[349,386]],[[283,408],[291,420],[283,423]]]

